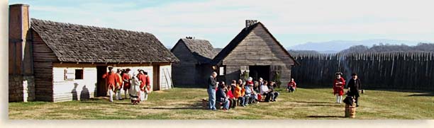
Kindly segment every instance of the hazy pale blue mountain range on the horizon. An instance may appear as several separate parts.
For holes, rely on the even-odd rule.
[[[329,42],[306,42],[301,45],[295,45],[292,47],[286,47],[286,50],[314,50],[321,53],[335,53],[345,50],[354,45],[365,45],[372,47],[372,45],[389,44],[389,45],[418,45],[419,42],[425,41],[408,41],[408,40],[333,40]],[[433,42],[428,42],[433,43]]]

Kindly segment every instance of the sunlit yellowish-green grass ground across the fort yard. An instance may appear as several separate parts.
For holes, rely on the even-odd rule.
[[[176,88],[156,91],[140,105],[130,100],[106,98],[63,103],[9,103],[9,119],[349,119],[344,104],[334,103],[331,88],[298,88],[295,93],[279,90],[274,103],[259,103],[235,110],[204,110],[206,89]],[[434,119],[434,95],[367,90],[361,94],[355,119]]]

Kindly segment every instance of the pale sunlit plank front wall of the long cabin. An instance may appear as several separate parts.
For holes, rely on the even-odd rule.
[[[87,100],[89,98],[94,98],[97,91],[97,69],[96,66],[99,64],[88,64],[88,63],[55,63],[52,74],[53,77],[53,101],[62,102],[69,100]],[[172,71],[172,66],[170,63],[157,63],[157,64],[113,64],[114,69],[127,69],[130,68],[131,71],[137,71],[138,69],[143,69],[148,72],[150,77],[151,90],[153,90],[153,66],[160,65],[160,89],[166,90],[171,86],[171,81],[169,76],[167,76],[167,71],[169,73]],[[73,81],[65,81],[64,74],[65,69],[83,69],[83,79],[76,79]],[[162,74],[166,72],[167,81],[165,75]],[[132,73],[132,72],[131,72]],[[123,94],[123,90],[121,90]]]

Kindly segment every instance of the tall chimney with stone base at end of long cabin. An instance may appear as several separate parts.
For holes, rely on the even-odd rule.
[[[9,101],[34,99],[28,7],[27,4],[9,6]]]

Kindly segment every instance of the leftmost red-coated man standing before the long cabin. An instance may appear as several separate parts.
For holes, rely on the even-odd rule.
[[[119,77],[116,73],[113,71],[113,66],[109,66],[109,72],[104,74],[102,78],[106,79],[106,85],[107,88],[109,88],[109,95],[110,95],[110,102],[113,102],[113,91],[116,89],[116,84],[119,81]]]

